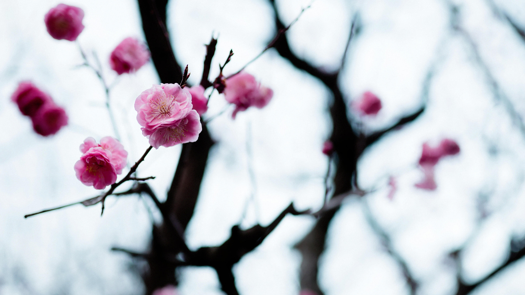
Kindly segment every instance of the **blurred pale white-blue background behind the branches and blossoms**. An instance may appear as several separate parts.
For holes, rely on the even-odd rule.
[[[132,259],[112,247],[146,251],[160,214],[147,198],[110,197],[100,205],[77,205],[24,219],[44,208],[96,196],[80,183],[73,165],[88,136],[114,135],[104,89],[75,42],[49,36],[44,15],[60,2],[0,2],[0,294],[142,294]],[[511,0],[276,0],[295,54],[325,71],[344,67],[340,87],[349,120],[368,134],[392,125],[425,105],[424,113],[365,151],[358,183],[367,194],[348,197],[328,231],[320,259],[325,294],[408,294],[395,249],[418,281],[418,294],[455,294],[457,266],[476,283],[502,265],[511,245],[525,237],[525,2]],[[151,62],[117,77],[110,52],[126,37],[144,40],[138,4],[132,0],[66,4],[85,13],[77,41],[101,59],[113,112],[128,159],[149,146],[133,108],[135,98],[159,78]],[[346,55],[352,19],[358,25]],[[263,0],[171,0],[167,27],[175,55],[202,74],[205,46],[218,36],[210,78],[230,49],[225,73],[236,72],[275,35],[274,11]],[[523,31],[522,31],[523,32]],[[343,56],[345,60],[343,61]],[[232,120],[230,107],[208,124],[217,142],[208,160],[195,215],[186,231],[191,249],[222,244],[230,228],[267,225],[293,201],[319,209],[328,157],[331,93],[316,78],[293,67],[274,50],[247,69],[274,90],[264,109],[250,108]],[[35,134],[10,96],[31,80],[64,107],[69,125],[55,136]],[[374,92],[383,108],[361,118],[351,102]],[[206,92],[209,93],[209,90]],[[215,92],[204,115],[225,106]],[[416,188],[422,144],[457,141],[461,152],[436,166],[435,191]],[[162,199],[181,147],[153,150],[140,165]],[[250,171],[254,179],[250,180]],[[397,189],[392,199],[388,181]],[[125,189],[125,187],[122,187]],[[371,226],[382,228],[389,245]],[[293,249],[314,218],[287,216],[264,243],[234,267],[241,294],[298,294],[301,256]],[[514,243],[511,243],[514,241]],[[520,246],[522,247],[522,246]],[[451,255],[458,249],[459,258]],[[215,271],[177,270],[178,292],[222,294]],[[525,294],[525,261],[518,260],[477,288],[476,294]]]

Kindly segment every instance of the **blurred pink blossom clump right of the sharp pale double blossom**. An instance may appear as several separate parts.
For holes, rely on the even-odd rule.
[[[236,108],[232,113],[235,119],[237,112],[245,111],[251,106],[259,109],[265,107],[270,99],[274,96],[274,91],[270,88],[261,86],[247,72],[240,72],[226,80],[224,97],[227,102],[235,104]]]

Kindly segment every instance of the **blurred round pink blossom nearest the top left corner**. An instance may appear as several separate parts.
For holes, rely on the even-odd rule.
[[[49,9],[44,22],[51,37],[57,40],[75,41],[84,29],[83,17],[84,11],[81,8],[58,4],[57,7]]]

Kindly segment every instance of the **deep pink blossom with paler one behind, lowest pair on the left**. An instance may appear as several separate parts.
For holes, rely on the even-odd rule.
[[[89,137],[80,145],[80,151],[83,154],[75,163],[77,178],[96,189],[104,189],[115,183],[117,174],[122,173],[128,158],[124,146],[111,136],[102,138],[100,144]]]

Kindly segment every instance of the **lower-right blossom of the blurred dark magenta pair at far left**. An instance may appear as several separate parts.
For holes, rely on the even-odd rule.
[[[64,109],[53,102],[48,102],[38,109],[31,117],[31,121],[36,133],[49,136],[67,125],[68,117]]]

